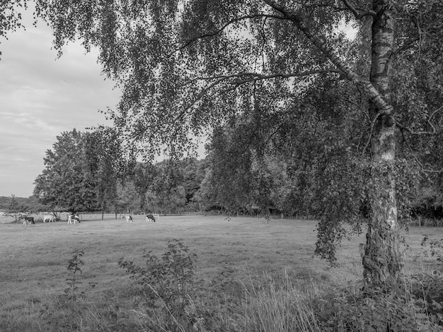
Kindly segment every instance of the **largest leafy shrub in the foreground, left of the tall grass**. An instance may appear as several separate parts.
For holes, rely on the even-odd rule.
[[[191,310],[195,307],[191,299],[198,297],[201,286],[194,273],[196,257],[174,239],[168,242],[168,250],[161,257],[144,250],[144,266],[123,259],[118,262],[140,287],[142,302],[149,311],[146,318],[151,320],[149,328],[184,331],[185,327],[202,325],[201,319],[193,316],[195,309]]]

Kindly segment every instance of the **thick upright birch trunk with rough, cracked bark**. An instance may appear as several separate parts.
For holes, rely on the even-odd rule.
[[[377,13],[372,23],[371,83],[390,102],[389,57],[393,50],[394,20],[388,0],[374,0]],[[398,223],[394,164],[396,160],[395,121],[393,114],[381,113],[374,104],[372,117],[372,215],[363,256],[363,277],[371,285],[395,280],[401,269],[398,247]]]

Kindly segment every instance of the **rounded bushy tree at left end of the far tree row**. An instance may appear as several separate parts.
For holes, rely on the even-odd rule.
[[[65,131],[47,150],[45,169],[35,179],[34,194],[52,211],[98,211],[95,179],[88,170],[88,133]]]

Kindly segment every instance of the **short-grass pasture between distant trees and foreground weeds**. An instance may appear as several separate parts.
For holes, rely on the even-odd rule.
[[[133,223],[108,215],[105,220],[84,218],[76,225],[66,221],[1,224],[0,331],[49,331],[42,312],[64,294],[66,279],[71,276],[67,261],[76,250],[84,251],[79,287],[96,285],[86,292],[84,301],[99,307],[115,306],[119,301],[122,307],[124,294],[132,287],[117,265],[120,258],[142,263],[144,249],[161,255],[173,239],[180,239],[197,254],[196,272],[207,283],[226,274],[241,283],[290,278],[300,289],[313,284],[328,289],[358,283],[362,278],[359,243],[364,242],[364,235],[345,239],[337,264],[331,266],[313,256],[315,229],[315,220],[271,219],[267,223],[263,218],[200,215],[162,216],[157,223],[146,223],[142,215],[134,215]],[[406,272],[428,268],[426,259],[416,259],[425,234],[437,239],[443,232],[441,228],[413,227],[405,234],[409,245],[405,247]]]

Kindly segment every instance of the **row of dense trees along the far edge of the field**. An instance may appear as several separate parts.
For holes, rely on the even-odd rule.
[[[324,119],[323,110],[316,112],[315,105],[333,99],[340,104],[340,90],[334,98],[318,93],[306,98],[294,110],[297,117],[280,120],[276,116],[273,126],[265,126],[260,117],[243,117],[219,126],[207,143],[203,160],[141,162],[125,153],[115,129],[64,132],[46,152],[45,169],[35,179],[34,195],[2,197],[0,208],[11,213],[100,211],[115,215],[217,210],[313,218],[340,213],[343,218],[354,218],[358,230],[369,218],[364,183],[368,165],[352,160],[355,155],[343,148],[346,131],[345,137],[336,138],[338,142],[328,140],[330,145],[324,138],[316,141],[310,135],[318,127],[332,125],[333,115]],[[312,126],[291,124],[309,122],[303,117],[316,119],[311,120]],[[297,141],[297,146],[285,144],[288,135],[296,136],[291,141]],[[436,144],[419,156],[438,153]],[[435,158],[432,166],[438,167],[438,162]],[[441,174],[421,174],[414,160],[404,158],[396,177],[404,223],[415,216],[443,217]]]

